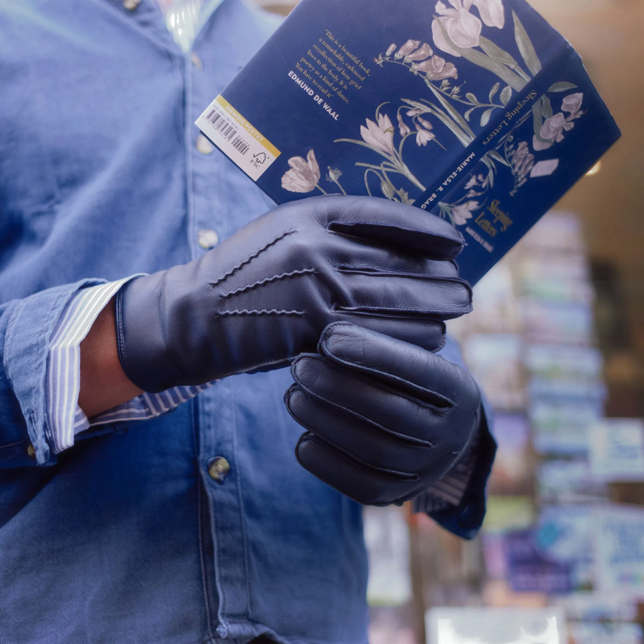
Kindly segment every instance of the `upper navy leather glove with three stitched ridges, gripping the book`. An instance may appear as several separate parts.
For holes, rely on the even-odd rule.
[[[285,366],[351,320],[435,350],[471,310],[463,238],[421,209],[373,197],[284,204],[199,260],[117,296],[120,363],[148,392]]]

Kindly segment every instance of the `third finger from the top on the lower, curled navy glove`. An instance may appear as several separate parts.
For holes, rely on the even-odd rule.
[[[436,480],[459,457],[459,453],[444,453],[426,442],[385,433],[312,397],[296,384],[287,390],[284,402],[295,421],[372,468],[419,474],[423,480],[428,480],[431,472],[431,480]]]

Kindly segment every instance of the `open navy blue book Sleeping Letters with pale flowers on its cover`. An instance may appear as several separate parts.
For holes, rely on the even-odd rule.
[[[196,124],[278,204],[370,194],[444,218],[471,283],[620,136],[524,0],[301,0]]]

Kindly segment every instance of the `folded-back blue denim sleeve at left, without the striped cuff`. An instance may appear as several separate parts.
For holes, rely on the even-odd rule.
[[[0,307],[0,468],[53,464],[46,415],[50,338],[83,279]]]

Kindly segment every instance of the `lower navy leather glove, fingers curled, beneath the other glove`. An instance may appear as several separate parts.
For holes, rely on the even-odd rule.
[[[317,478],[384,506],[417,496],[460,459],[482,412],[459,366],[345,322],[325,328],[318,350],[293,361],[284,396],[308,430],[296,457]]]

